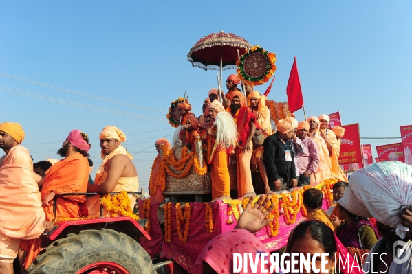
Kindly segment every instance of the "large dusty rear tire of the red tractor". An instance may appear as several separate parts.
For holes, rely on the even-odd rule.
[[[102,268],[104,264],[99,266],[99,262],[118,265],[126,270],[124,273],[156,273],[149,254],[138,242],[124,233],[109,229],[80,231],[56,240],[36,257],[26,273],[80,274],[91,264]]]

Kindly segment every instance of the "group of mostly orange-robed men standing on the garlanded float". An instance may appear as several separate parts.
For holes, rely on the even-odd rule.
[[[228,159],[231,155],[235,155],[237,162],[237,198],[270,195],[331,177],[347,181],[338,164],[344,128],[330,129],[329,116],[323,114],[302,122],[286,117],[279,120],[274,129],[266,97],[248,85],[242,93],[238,88],[240,83],[238,76],[232,74],[226,80],[226,95],[211,89],[198,118],[191,112],[191,104],[177,104],[182,118],[172,146],[180,139],[183,146],[192,150],[196,140],[193,133],[202,137],[213,200],[230,199]],[[157,142],[158,146],[165,144],[170,146],[164,139]],[[160,165],[160,156],[157,159],[152,178],[157,176]],[[156,197],[153,201],[164,201],[161,195]]]

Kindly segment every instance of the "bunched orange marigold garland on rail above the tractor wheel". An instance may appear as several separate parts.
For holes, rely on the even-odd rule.
[[[108,212],[113,211],[112,217],[116,217],[118,214],[121,214],[121,216],[139,220],[139,216],[133,214],[133,210],[130,206],[130,198],[125,191],[121,191],[119,194],[115,195],[107,194],[102,197],[100,203]]]

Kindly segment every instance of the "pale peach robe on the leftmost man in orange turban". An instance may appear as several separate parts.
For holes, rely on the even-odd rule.
[[[21,239],[43,233],[45,214],[28,150],[15,146],[0,161],[0,257],[14,259]]]

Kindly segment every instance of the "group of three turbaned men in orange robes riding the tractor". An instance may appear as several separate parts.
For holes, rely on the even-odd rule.
[[[29,151],[21,146],[25,137],[18,123],[0,124],[0,273],[13,272],[19,258],[22,273],[42,250],[41,234],[51,231],[53,222],[100,216],[98,196],[61,196],[64,193],[138,192],[138,174],[133,157],[122,146],[126,136],[116,126],[105,126],[100,133],[101,157],[96,179],[90,181],[93,162],[88,158],[89,138],[72,130],[58,155],[60,161],[33,165]],[[35,172],[34,172],[35,171]],[[129,195],[133,209],[136,196]],[[55,203],[54,203],[55,201]],[[53,207],[56,207],[56,216]],[[104,210],[104,216],[113,212]]]

